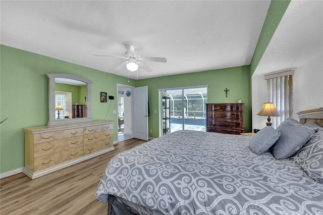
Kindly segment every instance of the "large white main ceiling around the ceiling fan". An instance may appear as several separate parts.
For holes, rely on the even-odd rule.
[[[147,62],[138,79],[249,65],[270,1],[1,1],[1,44],[124,77],[123,42]],[[136,73],[129,73],[136,78]]]

